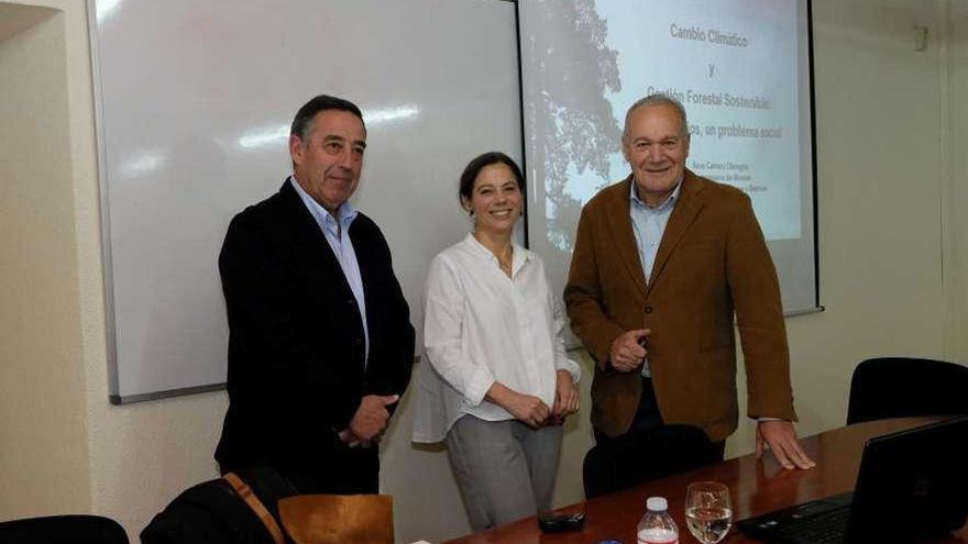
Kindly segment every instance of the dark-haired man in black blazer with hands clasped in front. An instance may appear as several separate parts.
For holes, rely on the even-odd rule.
[[[356,106],[314,98],[293,121],[293,176],[229,225],[222,473],[267,466],[304,493],[377,492],[414,327],[383,234],[348,201],[365,147]]]

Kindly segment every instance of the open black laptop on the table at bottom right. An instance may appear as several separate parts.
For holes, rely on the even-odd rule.
[[[968,417],[870,438],[854,492],[826,497],[736,528],[769,544],[917,542],[965,525]]]

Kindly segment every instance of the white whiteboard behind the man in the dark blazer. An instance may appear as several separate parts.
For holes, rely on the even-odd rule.
[[[470,223],[458,177],[521,158],[515,4],[499,0],[89,0],[113,403],[221,388],[217,258],[278,190],[296,110],[361,107],[353,203],[383,229],[421,329],[427,263]]]

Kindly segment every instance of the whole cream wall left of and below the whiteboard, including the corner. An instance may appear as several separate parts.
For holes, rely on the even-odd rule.
[[[18,3],[0,4],[0,27],[29,26],[0,43],[0,519],[94,511],[136,533],[215,474],[224,399],[108,403],[85,7]]]

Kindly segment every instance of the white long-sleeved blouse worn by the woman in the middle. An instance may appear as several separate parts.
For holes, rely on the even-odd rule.
[[[554,403],[556,373],[575,382],[562,337],[564,314],[541,258],[514,246],[512,277],[473,234],[430,263],[424,290],[424,358],[417,373],[415,442],[440,442],[465,414],[514,417],[484,399],[495,381]]]

